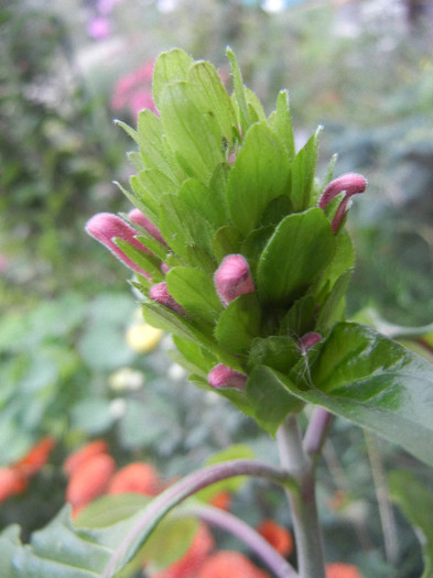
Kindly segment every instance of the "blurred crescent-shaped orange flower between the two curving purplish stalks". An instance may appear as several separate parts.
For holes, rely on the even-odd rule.
[[[153,574],[152,578],[190,578],[195,576],[195,572],[201,568],[214,547],[215,541],[209,530],[204,524],[201,524],[187,553],[164,570]],[[229,572],[220,576],[231,577],[232,575]],[[248,578],[248,576],[245,578]]]

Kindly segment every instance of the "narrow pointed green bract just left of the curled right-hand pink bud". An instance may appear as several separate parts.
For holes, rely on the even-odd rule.
[[[305,210],[312,205],[312,188],[321,130],[322,127],[316,130],[292,162],[289,196],[295,212]]]

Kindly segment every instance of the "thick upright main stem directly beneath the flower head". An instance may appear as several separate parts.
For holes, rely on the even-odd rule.
[[[286,491],[292,511],[300,578],[325,578],[323,538],[315,499],[314,465],[302,446],[297,417],[290,415],[277,432],[282,467],[297,479]]]

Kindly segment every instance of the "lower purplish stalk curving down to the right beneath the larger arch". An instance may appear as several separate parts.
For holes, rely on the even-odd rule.
[[[182,515],[199,517],[210,525],[230,532],[249,546],[273,571],[277,578],[297,578],[294,568],[256,530],[242,520],[210,505],[192,505],[182,510]]]

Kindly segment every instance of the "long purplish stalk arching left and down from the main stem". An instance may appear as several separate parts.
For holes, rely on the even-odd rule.
[[[133,556],[161,519],[175,505],[207,486],[236,476],[268,478],[284,487],[295,484],[294,478],[283,469],[253,459],[234,459],[190,473],[167,488],[145,508],[143,515],[128,532],[109,559],[101,578],[111,578],[120,569],[119,565],[126,563],[126,558],[130,559]]]

